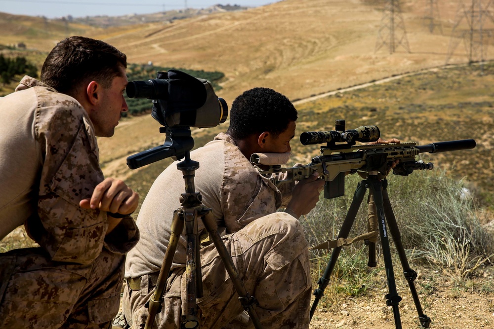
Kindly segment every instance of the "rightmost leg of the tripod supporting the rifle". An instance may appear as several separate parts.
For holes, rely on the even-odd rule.
[[[420,300],[418,298],[417,290],[415,288],[415,284],[413,283],[417,278],[417,272],[410,268],[408,263],[407,256],[405,255],[405,249],[403,248],[403,244],[401,241],[400,230],[398,228],[398,223],[396,222],[395,215],[393,213],[393,209],[391,208],[391,203],[389,202],[388,191],[386,190],[387,181],[384,181],[383,190],[382,190],[382,198],[383,198],[383,207],[384,207],[384,215],[386,216],[386,221],[389,226],[389,232],[393,238],[396,249],[398,251],[398,256],[400,256],[400,261],[403,267],[403,273],[405,278],[408,281],[408,285],[410,287],[410,292],[412,292],[413,302],[415,303],[415,308],[418,312],[418,319],[423,328],[429,328],[431,323],[431,319],[424,314],[422,310],[422,306],[420,305]]]

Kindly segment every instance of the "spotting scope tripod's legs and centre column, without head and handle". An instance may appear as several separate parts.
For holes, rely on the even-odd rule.
[[[181,328],[199,328],[200,322],[197,314],[197,298],[203,295],[202,274],[201,274],[201,258],[199,253],[199,236],[197,232],[197,218],[203,219],[204,226],[209,233],[209,238],[214,243],[218,254],[225,265],[225,268],[232,279],[235,290],[239,294],[239,300],[247,311],[250,320],[256,329],[261,329],[261,323],[253,308],[257,303],[255,297],[249,295],[242,281],[239,278],[239,273],[235,268],[233,259],[225,247],[221,236],[218,233],[218,226],[210,209],[202,204],[202,196],[195,191],[194,176],[195,170],[199,168],[199,162],[190,159],[190,152],[185,153],[185,159],[177,164],[178,170],[182,171],[185,180],[185,193],[180,196],[181,207],[173,213],[171,224],[171,235],[168,247],[165,252],[156,289],[153,296],[149,300],[149,315],[146,319],[145,329],[153,328],[156,314],[161,311],[163,304],[163,294],[166,289],[166,279],[168,278],[170,268],[173,262],[173,256],[177,249],[180,235],[185,226],[187,237],[187,252],[186,252],[186,314],[182,314]]]

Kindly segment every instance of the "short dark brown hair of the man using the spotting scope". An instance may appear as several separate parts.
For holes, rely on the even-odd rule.
[[[73,96],[84,83],[97,81],[109,88],[119,65],[127,67],[127,57],[108,43],[88,37],[68,37],[58,42],[46,57],[41,81],[60,93]]]

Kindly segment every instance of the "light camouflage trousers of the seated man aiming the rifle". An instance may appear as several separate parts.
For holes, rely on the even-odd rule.
[[[287,213],[274,213],[224,236],[223,242],[247,292],[259,302],[255,310],[263,327],[309,328],[309,256],[300,222]],[[204,292],[198,299],[200,328],[254,328],[214,245],[200,253]],[[186,309],[183,273],[183,268],[171,272],[155,328],[180,328]],[[153,282],[153,275],[144,275],[140,290],[124,288],[122,307],[133,329],[144,328],[148,316],[144,305],[153,295]]]

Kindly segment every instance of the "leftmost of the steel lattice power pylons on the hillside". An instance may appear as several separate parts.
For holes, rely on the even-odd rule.
[[[381,19],[381,27],[377,31],[377,42],[375,52],[383,45],[389,46],[389,53],[395,52],[396,47],[402,46],[410,53],[410,46],[407,39],[407,30],[403,20],[400,1],[386,0],[384,13]]]

